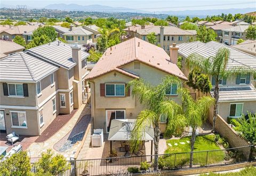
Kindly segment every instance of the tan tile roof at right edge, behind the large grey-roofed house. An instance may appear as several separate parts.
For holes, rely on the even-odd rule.
[[[232,45],[234,49],[256,56],[256,41],[247,40],[238,45]]]

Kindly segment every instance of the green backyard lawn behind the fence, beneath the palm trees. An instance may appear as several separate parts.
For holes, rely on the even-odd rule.
[[[205,166],[209,164],[218,164],[223,161],[225,153],[214,141],[215,135],[209,134],[196,137],[195,149],[198,151],[194,153],[193,165]],[[170,139],[166,141],[167,149],[165,154],[170,154],[160,158],[161,167],[180,167],[182,165],[189,165],[190,158],[190,137],[181,139]],[[215,150],[211,152],[203,150]],[[162,164],[162,165],[161,165]]]

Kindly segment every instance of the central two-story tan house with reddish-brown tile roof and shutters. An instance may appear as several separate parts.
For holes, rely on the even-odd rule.
[[[94,128],[109,131],[112,119],[137,118],[143,107],[131,90],[125,91],[127,83],[133,79],[143,79],[156,86],[167,75],[187,80],[177,63],[177,47],[172,47],[171,58],[161,47],[137,37],[109,47],[85,78],[91,86],[91,115]],[[181,103],[177,95],[177,84],[172,84],[167,92],[170,99]],[[161,118],[164,132],[166,118]]]

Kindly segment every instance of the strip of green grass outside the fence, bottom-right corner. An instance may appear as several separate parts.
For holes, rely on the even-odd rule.
[[[229,172],[229,173],[209,173],[201,174],[200,176],[253,176],[256,175],[256,167],[245,167],[242,171],[239,172]]]

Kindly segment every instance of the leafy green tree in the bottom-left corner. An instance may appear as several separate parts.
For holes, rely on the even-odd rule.
[[[0,162],[0,175],[30,175],[31,164],[27,151],[13,154]]]

